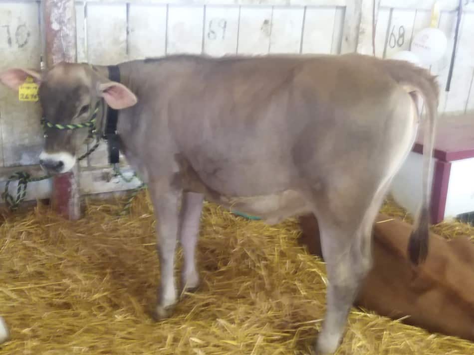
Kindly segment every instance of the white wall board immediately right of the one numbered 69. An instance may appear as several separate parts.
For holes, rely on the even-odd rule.
[[[238,26],[238,54],[267,54],[271,35],[271,7],[242,6]]]

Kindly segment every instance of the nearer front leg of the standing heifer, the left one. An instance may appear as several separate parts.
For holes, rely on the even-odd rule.
[[[171,190],[160,193],[150,186],[150,193],[155,209],[157,249],[160,259],[158,305],[153,316],[156,320],[161,320],[170,316],[177,301],[174,266],[181,191]]]

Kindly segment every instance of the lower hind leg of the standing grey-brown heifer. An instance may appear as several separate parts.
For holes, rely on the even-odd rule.
[[[384,184],[377,191],[362,216],[352,211],[341,222],[327,211],[316,214],[328,275],[326,315],[316,343],[318,355],[333,354],[343,339],[349,311],[372,266],[372,228],[388,186]],[[354,215],[359,218],[351,218]]]

